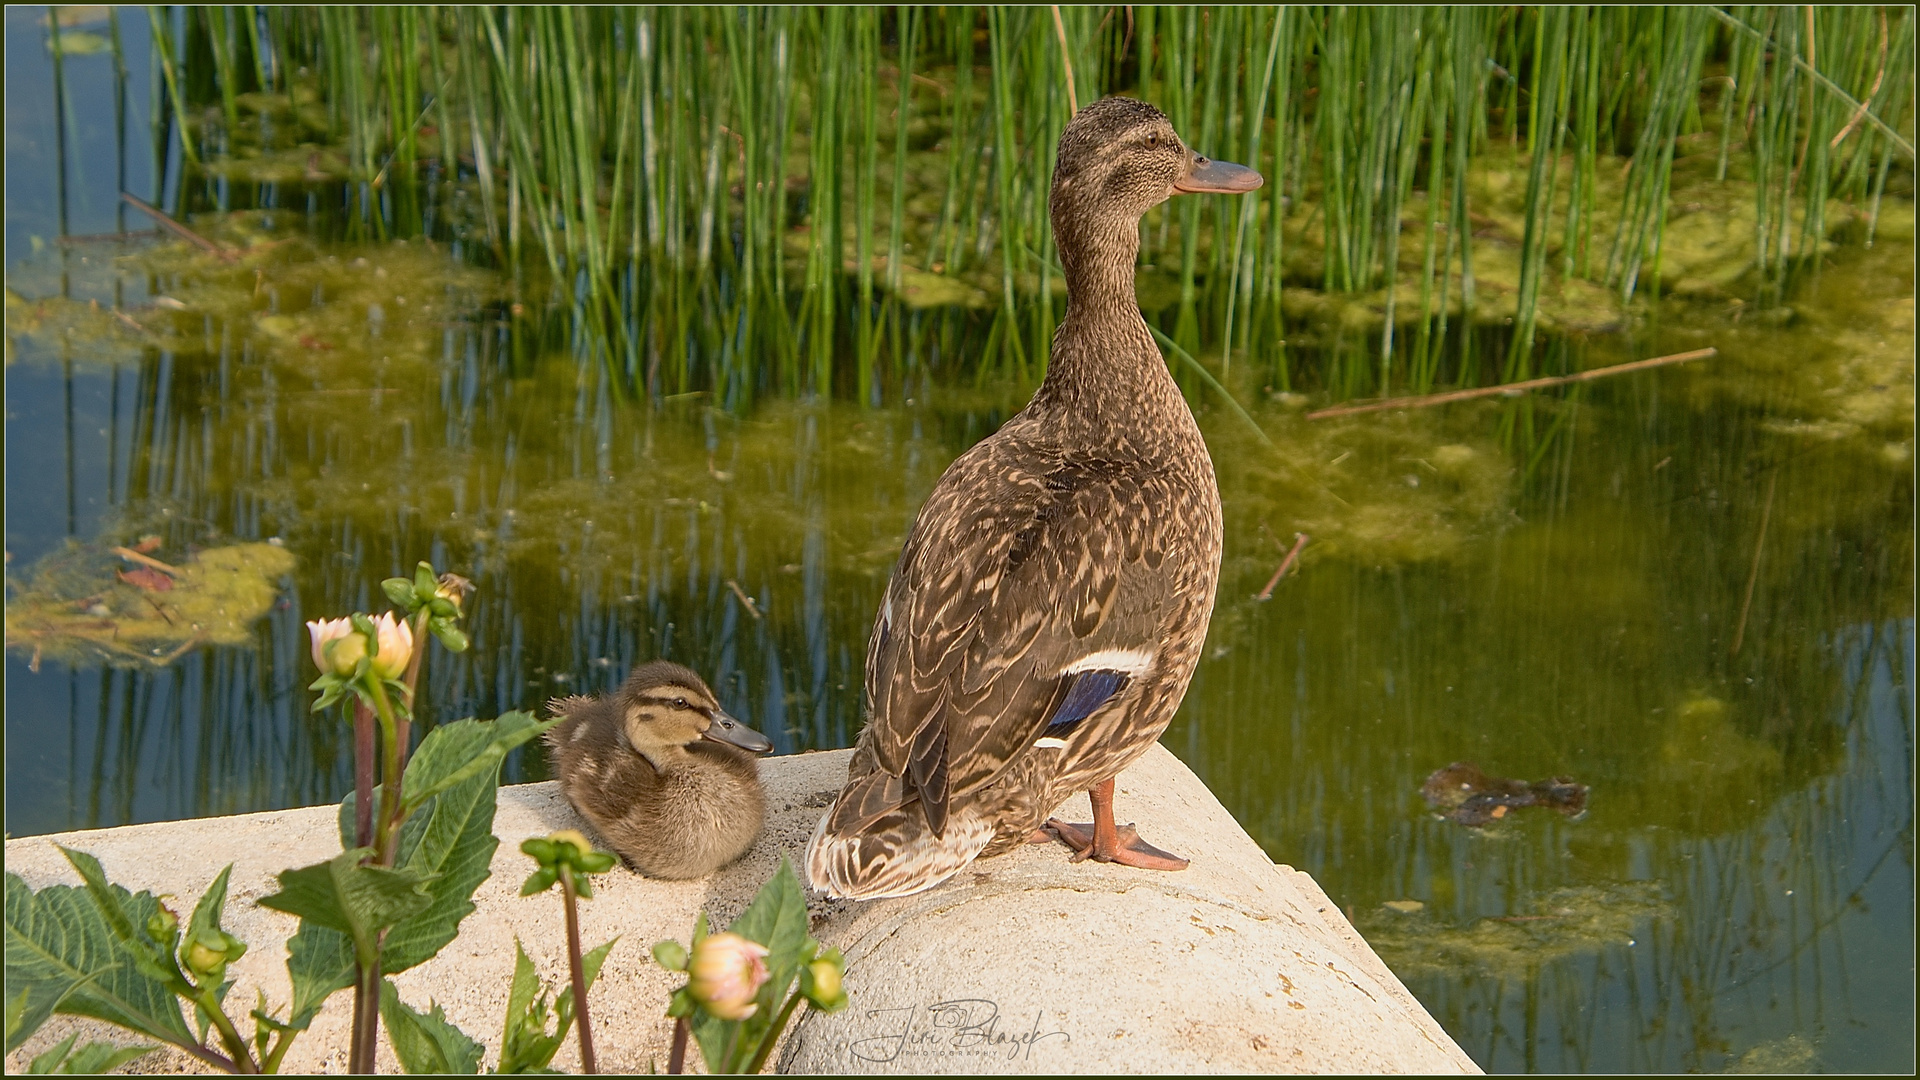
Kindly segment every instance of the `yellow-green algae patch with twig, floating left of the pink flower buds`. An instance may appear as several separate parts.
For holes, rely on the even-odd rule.
[[[179,563],[71,544],[8,580],[6,644],[33,657],[165,667],[194,646],[238,646],[273,605],[294,553],[271,542],[207,548]]]

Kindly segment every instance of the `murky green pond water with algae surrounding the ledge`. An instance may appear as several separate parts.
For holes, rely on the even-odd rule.
[[[150,192],[150,156],[115,177],[108,83],[73,63],[61,171],[44,35],[6,17],[10,834],[338,799],[301,623],[417,559],[478,584],[430,721],[664,655],[780,753],[851,744],[906,525],[1031,384],[632,402],[564,311],[444,244],[328,240],[305,196],[196,217],[257,246],[234,265],[60,242],[146,229],[115,184]],[[1912,1070],[1910,223],[1837,248],[1791,315],[1668,302],[1557,346],[1705,361],[1327,421],[1248,373],[1248,415],[1192,392],[1227,550],[1164,742],[1484,1068]],[[234,626],[113,584],[115,546],[211,567],[242,544],[271,588],[209,592]],[[52,613],[94,630],[31,623]],[[1421,784],[1453,761],[1569,776],[1588,809],[1444,821]]]

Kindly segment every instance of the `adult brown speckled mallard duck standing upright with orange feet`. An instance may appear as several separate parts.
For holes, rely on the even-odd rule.
[[[1133,294],[1140,215],[1260,173],[1106,98],[1060,135],[1048,209],[1068,313],[1033,402],[962,454],[914,519],[866,653],[868,724],[806,847],[814,888],[931,888],[1041,840],[1177,871],[1114,824],[1114,776],[1187,694],[1219,580],[1219,488]],[[1073,792],[1092,824],[1052,821]]]

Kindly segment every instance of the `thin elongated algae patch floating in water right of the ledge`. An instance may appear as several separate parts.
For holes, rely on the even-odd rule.
[[[1553,961],[1628,945],[1638,922],[1670,911],[1659,882],[1619,882],[1559,888],[1540,896],[1528,915],[1476,919],[1467,926],[1394,909],[1363,919],[1361,932],[1402,978],[1471,970],[1523,976]]]

